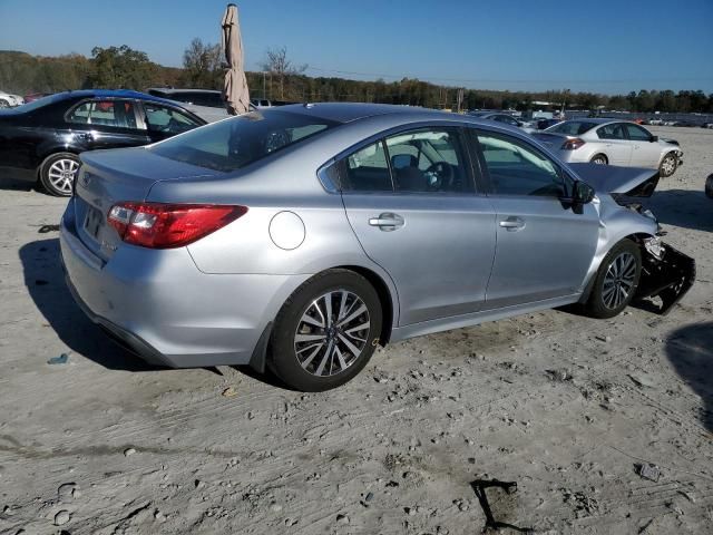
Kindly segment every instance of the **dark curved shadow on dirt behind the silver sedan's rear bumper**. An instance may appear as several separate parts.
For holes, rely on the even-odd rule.
[[[59,240],[28,243],[20,249],[20,261],[32,301],[62,342],[110,370],[150,371],[150,366],[114,343],[79,309],[72,299],[59,260]],[[55,357],[52,354],[47,356]]]

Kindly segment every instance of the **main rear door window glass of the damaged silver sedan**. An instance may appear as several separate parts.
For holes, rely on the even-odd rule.
[[[428,129],[387,137],[397,191],[452,193],[470,191],[456,130]]]

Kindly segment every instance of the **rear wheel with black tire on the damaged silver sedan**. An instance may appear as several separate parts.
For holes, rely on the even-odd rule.
[[[348,292],[346,298],[341,293],[342,291]],[[305,315],[319,312],[315,307],[320,310],[329,310],[326,309],[328,299],[333,315],[339,315],[342,312],[342,299],[345,299],[345,303],[351,304],[352,308],[341,317],[341,321],[345,321],[361,310],[361,304],[365,307],[367,312],[354,317],[343,327],[336,327],[339,323],[335,321],[330,322],[332,324],[331,332],[329,329],[316,324],[313,327],[312,322],[303,321]],[[321,314],[321,312],[319,313]],[[310,318],[320,319],[319,315],[310,315]],[[364,334],[365,329],[356,331],[356,334],[363,338],[355,338],[355,335],[345,332],[346,328],[353,323],[359,323],[356,327],[361,327],[364,321],[369,322],[368,333]],[[297,390],[320,392],[336,388],[351,380],[367,366],[379,342],[381,325],[381,302],[377,291],[367,279],[350,270],[325,271],[297,288],[280,310],[272,331],[267,364],[287,386]],[[335,329],[339,332],[335,332]],[[322,338],[299,341],[297,337]],[[356,348],[360,350],[358,354],[354,354],[353,351],[342,353],[342,350],[349,351],[349,346],[342,341],[345,337],[350,337],[348,341],[354,348],[356,344],[363,343]],[[324,341],[320,343],[321,340]],[[336,349],[332,349],[334,347]],[[316,354],[313,356],[313,351],[316,351]],[[321,372],[320,367],[322,368]]]

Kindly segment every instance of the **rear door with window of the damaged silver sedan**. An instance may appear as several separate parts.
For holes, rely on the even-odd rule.
[[[480,310],[495,214],[475,193],[459,129],[406,130],[341,160],[342,198],[365,254],[391,276],[399,325]]]

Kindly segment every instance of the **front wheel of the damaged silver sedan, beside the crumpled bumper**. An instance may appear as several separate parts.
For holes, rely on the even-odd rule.
[[[615,271],[616,269],[614,268],[614,263],[618,260],[618,265],[622,265],[623,261],[627,260],[628,257],[633,259],[634,261],[633,279],[631,281],[628,280],[628,278],[626,279],[626,281],[624,281],[623,278],[617,279],[614,272],[609,272],[609,269]],[[628,269],[626,269],[625,271],[628,273]],[[599,271],[597,272],[594,285],[592,286],[592,292],[589,293],[589,298],[585,303],[585,312],[587,313],[587,315],[590,315],[592,318],[605,319],[614,318],[619,312],[622,312],[632,302],[632,299],[636,294],[641,274],[641,249],[636,243],[628,239],[622,240],[619,243],[612,247],[612,250],[607,253],[607,255],[602,261],[602,264],[599,265]],[[613,284],[612,279],[614,279]],[[628,290],[626,289],[626,284],[629,284]],[[614,288],[614,290],[612,290],[612,288]],[[619,289],[623,289],[626,295],[618,293],[622,291]],[[617,296],[614,298],[614,301],[612,300],[612,291],[617,293]],[[616,301],[616,299],[621,299],[621,301]]]

